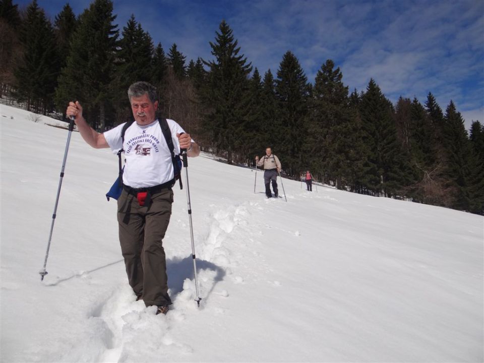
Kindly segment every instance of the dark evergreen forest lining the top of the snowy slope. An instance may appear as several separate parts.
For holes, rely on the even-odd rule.
[[[331,59],[308,80],[290,50],[277,70],[258,70],[223,20],[212,59],[190,61],[134,16],[119,29],[115,20],[111,0],[78,17],[67,4],[53,22],[36,0],[22,11],[0,0],[2,103],[61,118],[79,100],[102,132],[132,117],[127,89],[148,81],[160,116],[228,163],[254,167],[272,147],[288,178],[309,169],[341,190],[484,214],[484,126],[468,133],[453,101],[444,109],[429,92],[392,104],[374,79],[350,90]]]

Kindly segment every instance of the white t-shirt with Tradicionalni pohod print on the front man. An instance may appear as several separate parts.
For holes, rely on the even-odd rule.
[[[172,119],[167,119],[173,140],[173,152],[180,153],[176,134],[185,131]],[[121,124],[104,133],[107,144],[113,151],[125,150],[125,169],[123,184],[132,188],[153,187],[173,179],[171,154],[161,131],[158,119],[146,126],[134,122],[125,132],[122,143]]]

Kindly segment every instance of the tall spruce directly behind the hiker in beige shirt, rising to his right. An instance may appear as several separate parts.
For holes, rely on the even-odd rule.
[[[307,138],[308,100],[311,86],[296,56],[287,51],[277,71],[276,98],[278,117],[282,127],[274,130],[281,140],[280,155],[283,169],[289,175],[298,175],[301,168],[303,146]]]

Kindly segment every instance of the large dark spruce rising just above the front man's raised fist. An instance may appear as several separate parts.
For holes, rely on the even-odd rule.
[[[87,122],[100,131],[113,122],[112,112],[107,111],[118,96],[113,89],[118,37],[112,23],[115,18],[110,0],[95,0],[81,14],[55,97],[59,109],[70,100],[80,101]]]

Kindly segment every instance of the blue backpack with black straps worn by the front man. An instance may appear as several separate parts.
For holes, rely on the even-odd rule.
[[[123,140],[123,144],[125,142],[125,133],[126,130],[134,123],[134,120],[131,120],[123,126],[123,129],[121,130],[121,139]],[[175,181],[178,180],[180,184],[180,189],[183,189],[183,184],[181,184],[181,167],[183,166],[181,163],[180,155],[175,155],[174,153],[174,146],[173,146],[173,140],[171,140],[171,131],[168,126],[168,122],[166,118],[159,118],[158,122],[160,123],[161,131],[163,133],[163,136],[165,137],[166,145],[168,145],[168,150],[170,150],[171,153],[171,162],[173,163],[173,174],[174,177],[171,179],[171,187],[174,186]],[[121,153],[124,152],[123,149],[119,150],[117,152],[118,156],[118,162],[119,162],[119,175],[117,179],[114,181],[113,185],[109,189],[109,191],[106,193],[106,198],[109,200],[109,198],[113,199],[118,199],[119,196],[121,195],[121,192],[123,191],[123,170],[124,166],[122,167],[121,164]]]

